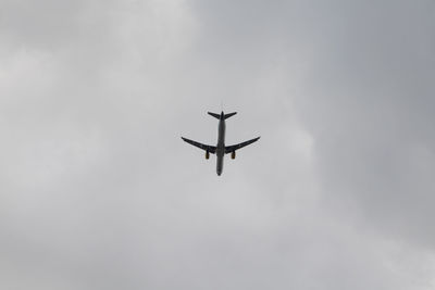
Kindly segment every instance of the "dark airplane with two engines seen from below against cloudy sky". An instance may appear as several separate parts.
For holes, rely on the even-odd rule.
[[[238,144],[225,146],[225,128],[226,128],[225,119],[234,116],[235,114],[237,114],[237,112],[229,113],[229,114],[224,114],[224,112],[221,112],[221,114],[208,112],[208,114],[219,119],[217,144],[216,146],[202,144],[197,141],[192,141],[187,138],[184,138],[184,137],[182,137],[182,139],[183,139],[183,141],[185,141],[189,144],[192,144],[195,147],[198,147],[198,148],[204,150],[207,160],[210,157],[210,153],[216,154],[216,157],[217,157],[216,173],[217,173],[217,176],[221,176],[222,171],[224,168],[224,155],[231,153],[232,159],[235,159],[236,150],[258,141],[260,139],[260,137],[253,138],[251,140],[248,140],[248,141],[245,141],[245,142],[241,142]]]

